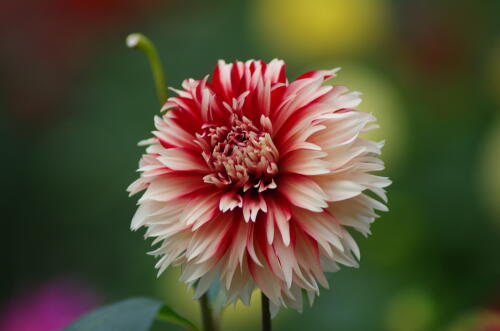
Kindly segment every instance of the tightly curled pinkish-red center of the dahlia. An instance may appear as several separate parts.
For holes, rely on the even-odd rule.
[[[230,127],[206,124],[202,129],[198,143],[212,171],[203,178],[206,183],[244,191],[252,186],[259,192],[276,188],[279,154],[268,132],[237,115],[231,117]]]

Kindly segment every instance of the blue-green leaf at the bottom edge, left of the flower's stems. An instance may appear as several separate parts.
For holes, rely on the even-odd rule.
[[[147,331],[156,318],[187,330],[198,330],[193,323],[158,300],[133,298],[91,311],[63,331]]]

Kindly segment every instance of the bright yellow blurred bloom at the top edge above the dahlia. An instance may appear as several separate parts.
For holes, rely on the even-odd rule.
[[[257,0],[250,11],[259,36],[288,56],[352,54],[390,31],[384,0]]]

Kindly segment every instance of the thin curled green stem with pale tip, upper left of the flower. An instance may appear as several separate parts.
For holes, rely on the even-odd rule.
[[[156,85],[156,94],[160,100],[160,105],[167,101],[167,89],[165,84],[165,76],[161,66],[160,57],[156,51],[155,46],[148,37],[141,33],[132,33],[127,36],[127,46],[130,48],[137,48],[146,54],[153,72],[153,79]]]

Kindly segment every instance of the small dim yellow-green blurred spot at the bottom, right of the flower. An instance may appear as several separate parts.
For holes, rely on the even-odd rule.
[[[422,289],[405,289],[387,307],[388,331],[426,331],[435,319],[432,298]]]

